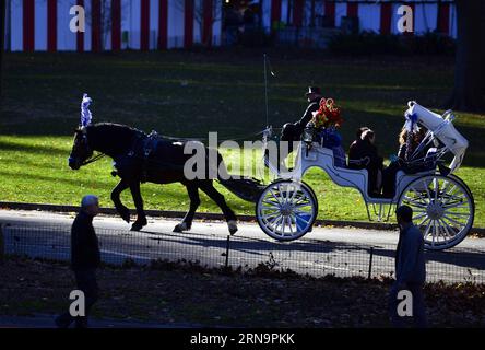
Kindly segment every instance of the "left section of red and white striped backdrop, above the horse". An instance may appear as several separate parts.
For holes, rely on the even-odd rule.
[[[11,50],[156,49],[220,45],[222,0],[7,0]],[[72,33],[73,5],[85,9],[85,32]],[[100,20],[102,7],[108,20]],[[199,14],[199,15],[198,15]],[[217,15],[217,18],[215,18]],[[201,28],[203,16],[204,26]],[[10,22],[10,27],[9,27]],[[106,30],[102,28],[106,24]],[[9,45],[9,44],[8,44]]]

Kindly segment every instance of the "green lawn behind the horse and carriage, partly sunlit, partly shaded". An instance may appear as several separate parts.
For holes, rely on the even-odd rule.
[[[453,62],[436,57],[329,57],[321,52],[270,51],[276,77],[270,80],[274,127],[300,117],[303,93],[318,84],[343,107],[344,145],[354,130],[376,130],[383,156],[397,151],[406,102],[440,109],[452,88]],[[117,183],[110,160],[73,172],[67,165],[83,92],[94,100],[95,121],[116,121],[176,137],[239,138],[262,130],[262,52],[9,54],[2,72],[0,119],[0,200],[75,205],[82,195],[100,196]],[[475,197],[475,226],[485,226],[485,116],[457,113],[456,125],[470,141],[462,177]],[[230,150],[222,153],[230,159]],[[356,190],[334,186],[311,171],[305,178],[319,197],[320,219],[366,220]],[[185,210],[180,185],[142,186],[146,208]],[[223,190],[238,213],[253,205]],[[132,206],[129,192],[123,200]],[[203,197],[201,211],[218,211]]]

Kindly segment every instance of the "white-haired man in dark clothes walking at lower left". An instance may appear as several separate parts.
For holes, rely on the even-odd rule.
[[[99,267],[100,254],[93,218],[99,211],[96,196],[85,196],[81,202],[81,210],[71,228],[71,269],[74,272],[78,290],[84,293],[84,316],[73,316],[67,312],[56,318],[60,328],[69,327],[74,320],[79,328],[87,327],[87,316],[91,307],[97,301],[98,287],[96,269]]]

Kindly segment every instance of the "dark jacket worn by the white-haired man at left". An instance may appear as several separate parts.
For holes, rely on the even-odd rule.
[[[93,228],[93,217],[80,211],[71,229],[71,268],[95,269],[99,261],[99,245]]]

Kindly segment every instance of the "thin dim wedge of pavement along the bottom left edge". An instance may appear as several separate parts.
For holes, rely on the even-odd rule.
[[[0,328],[56,328],[56,315],[38,314],[35,316],[0,315]],[[71,326],[73,327],[73,326]],[[201,325],[156,324],[140,320],[90,318],[90,328],[200,328]]]

